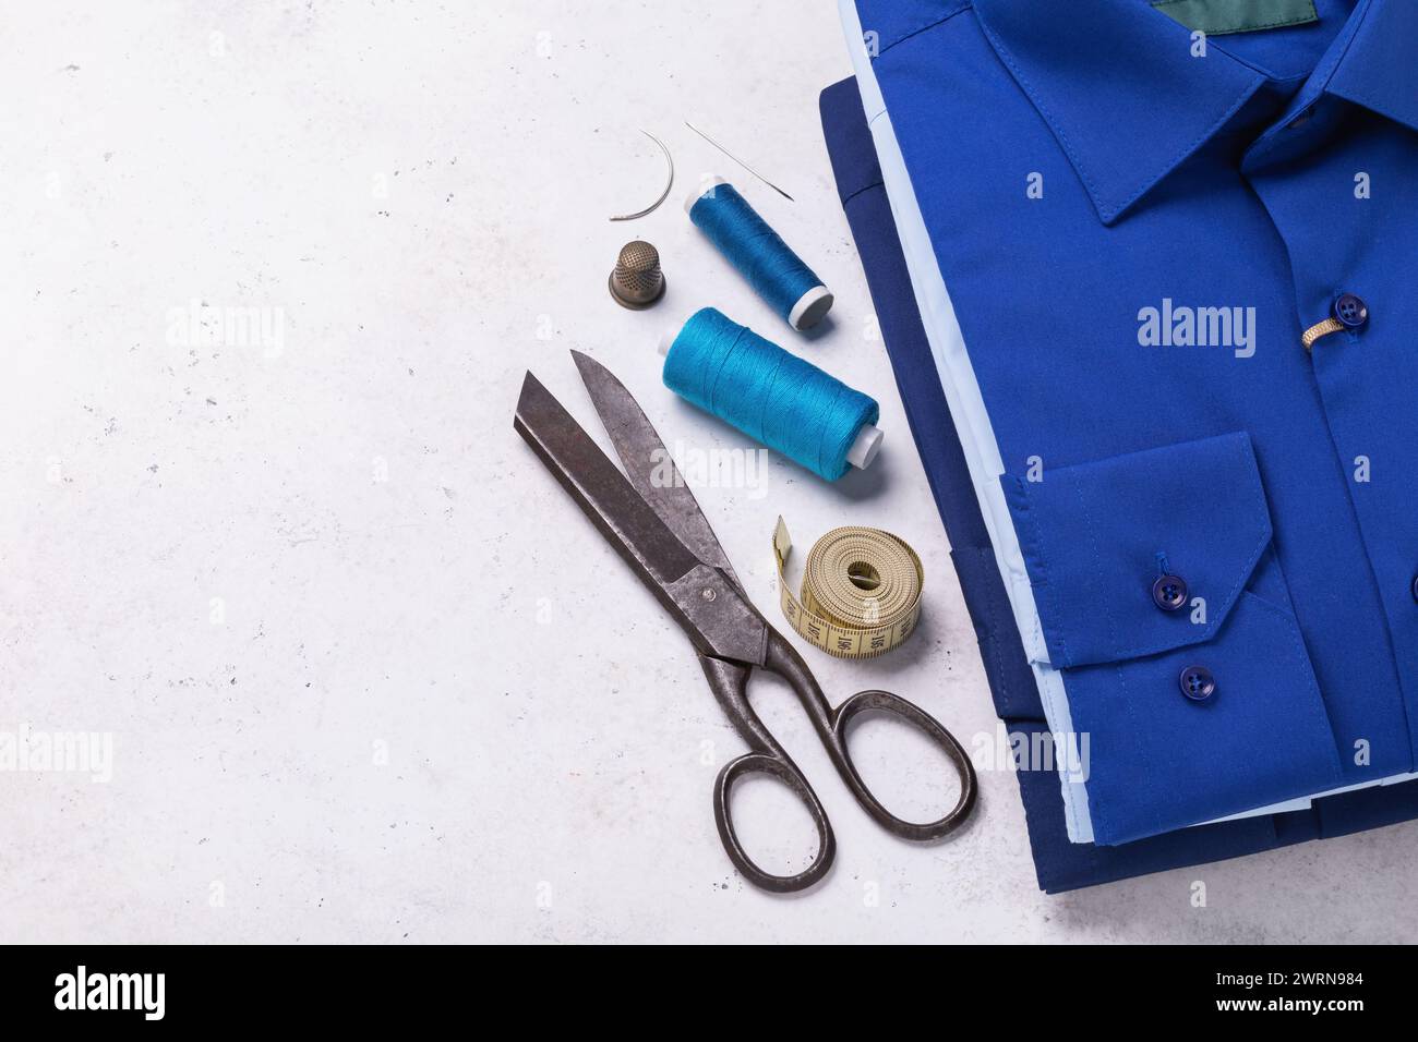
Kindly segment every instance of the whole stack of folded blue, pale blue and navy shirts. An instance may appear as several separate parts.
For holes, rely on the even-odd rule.
[[[1418,4],[841,6],[822,128],[1039,885],[1418,817]]]

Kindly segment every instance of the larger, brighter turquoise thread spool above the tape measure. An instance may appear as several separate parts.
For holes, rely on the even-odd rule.
[[[828,481],[876,458],[872,398],[713,308],[659,350],[665,387]]]

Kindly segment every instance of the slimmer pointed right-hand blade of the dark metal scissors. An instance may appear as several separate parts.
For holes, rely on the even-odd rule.
[[[679,536],[679,542],[693,550],[705,564],[723,568],[733,584],[743,590],[743,583],[739,581],[729,556],[713,534],[699,500],[689,491],[669,449],[665,448],[665,442],[655,432],[640,403],[614,373],[590,354],[573,350],[571,357],[581,371],[581,381],[591,396],[597,415],[605,424],[615,454],[625,466],[630,483],[671,532]]]

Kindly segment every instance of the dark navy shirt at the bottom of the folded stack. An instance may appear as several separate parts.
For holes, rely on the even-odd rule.
[[[1034,673],[995,567],[988,530],[912,293],[910,272],[855,82],[848,79],[824,91],[821,111],[838,193],[866,271],[912,432],[950,536],[995,709],[1011,734],[1022,736],[1024,744],[1035,739],[1049,743]],[[1222,439],[1200,455],[1202,459],[1214,458],[1221,474],[1228,468],[1246,474],[1241,444]],[[1269,537],[1268,523],[1261,525],[1252,533],[1252,543],[1269,542]],[[1269,563],[1256,564],[1262,573],[1271,567]],[[1261,591],[1258,597],[1279,595],[1276,587],[1261,581],[1256,588]],[[1086,655],[1083,651],[1079,654]],[[1316,800],[1312,808],[1303,811],[1198,825],[1099,846],[1069,841],[1059,785],[1052,771],[1029,770],[1029,764],[1024,764],[1018,780],[1039,886],[1048,892],[1234,858],[1418,817],[1418,783],[1408,783]]]

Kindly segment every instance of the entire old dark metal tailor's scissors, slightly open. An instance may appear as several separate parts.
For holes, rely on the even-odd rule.
[[[532,373],[522,383],[513,427],[689,637],[715,698],[749,744],[747,753],[719,771],[713,787],[715,822],[735,868],[756,886],[786,893],[821,879],[837,852],[832,827],[817,794],[749,705],[749,673],[756,666],[788,682],[842,781],[888,832],[902,839],[932,841],[959,828],[974,808],[976,774],[954,736],[920,707],[883,690],[858,692],[832,709],[803,658],[749,601],[709,520],[678,471],[668,469],[674,461],[630,391],[594,359],[574,350],[571,356],[625,474]],[[960,797],[946,817],[925,824],[905,821],[866,788],[852,766],[847,729],[868,712],[898,716],[944,750],[960,775]],[[730,790],[739,778],[754,773],[787,785],[817,825],[817,858],[797,875],[760,869],[735,832]]]

